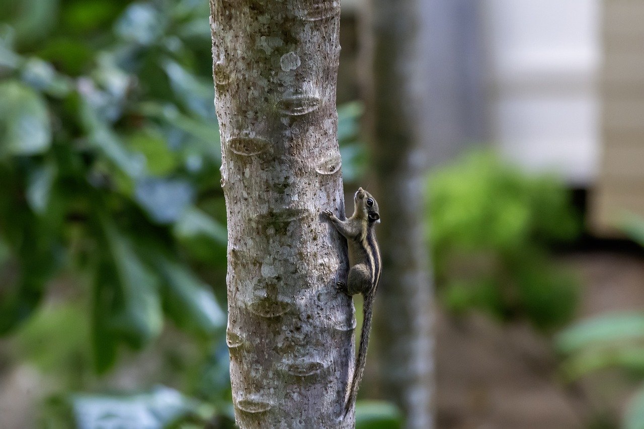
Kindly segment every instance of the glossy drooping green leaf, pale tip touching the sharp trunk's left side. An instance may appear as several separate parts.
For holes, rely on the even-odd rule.
[[[164,257],[156,260],[156,268],[167,285],[168,313],[176,325],[213,334],[225,324],[225,314],[209,285],[176,262]]]

